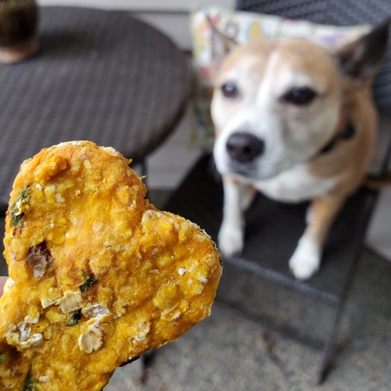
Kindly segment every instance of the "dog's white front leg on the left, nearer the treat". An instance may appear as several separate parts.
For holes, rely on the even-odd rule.
[[[242,185],[230,176],[223,176],[224,205],[223,222],[218,234],[221,252],[227,257],[243,248],[244,218],[241,200]]]

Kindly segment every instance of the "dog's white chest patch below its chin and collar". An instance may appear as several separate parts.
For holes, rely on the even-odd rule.
[[[267,181],[257,181],[254,186],[269,198],[296,203],[325,195],[337,182],[338,177],[314,176],[306,164],[301,164]]]

